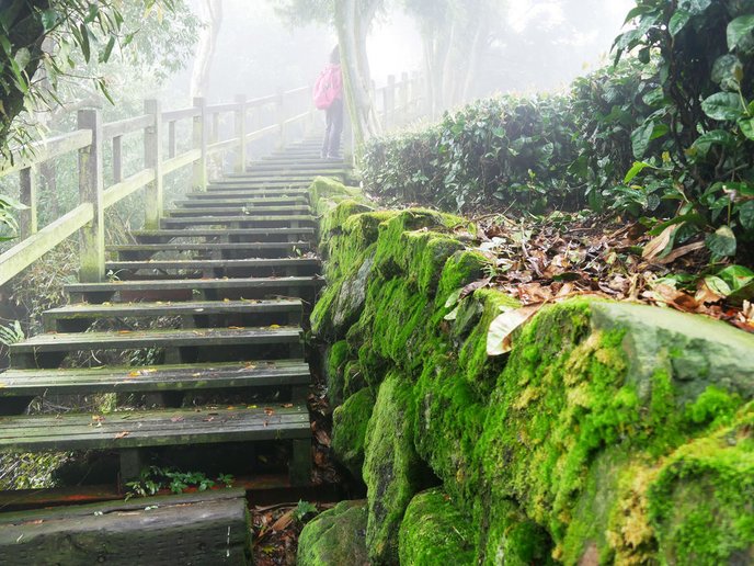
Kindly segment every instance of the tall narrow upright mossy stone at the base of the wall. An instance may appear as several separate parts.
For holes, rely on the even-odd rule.
[[[369,514],[366,540],[372,564],[398,562],[398,530],[425,474],[413,445],[413,386],[391,373],[379,386],[365,443],[364,482]]]

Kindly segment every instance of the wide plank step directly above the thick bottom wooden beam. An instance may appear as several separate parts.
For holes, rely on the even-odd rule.
[[[104,450],[308,439],[306,406],[0,417],[0,452]]]

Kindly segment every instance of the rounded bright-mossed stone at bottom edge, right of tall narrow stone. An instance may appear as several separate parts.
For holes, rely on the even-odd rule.
[[[412,566],[475,564],[473,528],[442,489],[416,495],[399,534],[400,563]]]

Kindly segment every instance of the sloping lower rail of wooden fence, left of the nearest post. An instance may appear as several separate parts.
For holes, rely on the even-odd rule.
[[[91,203],[80,204],[68,214],[48,224],[34,236],[0,254],[0,285],[21,273],[94,217]]]

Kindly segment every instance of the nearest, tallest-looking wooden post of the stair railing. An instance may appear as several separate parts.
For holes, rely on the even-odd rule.
[[[92,133],[92,144],[79,149],[79,199],[94,208],[92,222],[79,231],[79,280],[100,282],[105,275],[104,180],[102,178],[102,117],[99,110],[80,110],[79,129]]]

